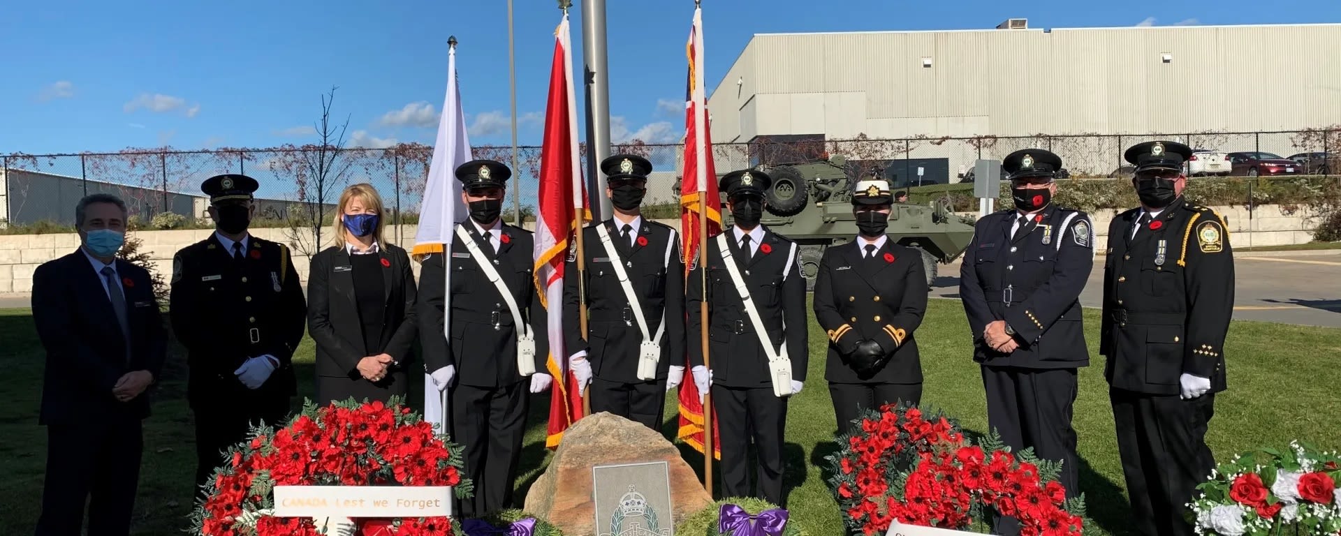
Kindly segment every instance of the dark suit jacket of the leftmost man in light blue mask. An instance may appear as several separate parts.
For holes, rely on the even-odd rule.
[[[121,402],[111,389],[137,370],[161,381],[168,335],[149,272],[119,259],[115,264],[122,289],[113,291],[123,292],[130,324],[129,362],[102,276],[82,251],[47,261],[32,275],[32,322],[47,350],[38,423],[83,423],[121,411],[149,417],[148,390]]]

